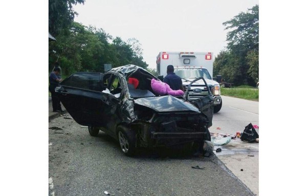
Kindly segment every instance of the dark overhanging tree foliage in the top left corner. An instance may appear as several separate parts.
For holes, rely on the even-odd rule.
[[[61,30],[68,29],[74,21],[73,5],[83,4],[85,0],[49,0],[49,33],[57,36]]]

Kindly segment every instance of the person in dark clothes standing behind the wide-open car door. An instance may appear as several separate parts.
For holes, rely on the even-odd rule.
[[[49,76],[49,91],[51,92],[51,99],[52,99],[52,109],[53,112],[62,112],[60,99],[57,93],[55,92],[55,87],[62,81],[62,79],[59,77],[60,75],[60,68],[55,67],[53,71],[50,73]]]

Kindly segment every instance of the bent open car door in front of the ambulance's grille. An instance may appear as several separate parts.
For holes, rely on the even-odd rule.
[[[203,80],[205,85],[206,85],[206,94],[198,99],[198,100],[191,100],[190,97],[189,97],[189,89],[191,87],[191,85],[198,81],[198,80]],[[195,80],[193,80],[189,85],[188,85],[188,88],[187,88],[187,93],[186,93],[186,96],[185,96],[185,100],[187,100],[188,102],[190,102],[191,104],[193,104],[195,107],[197,107],[201,112],[203,112],[209,119],[209,127],[212,126],[212,118],[213,118],[213,110],[214,110],[214,102],[213,102],[213,95],[208,87],[208,84],[207,82],[205,81],[205,79],[203,77],[199,77],[199,78],[196,78]]]

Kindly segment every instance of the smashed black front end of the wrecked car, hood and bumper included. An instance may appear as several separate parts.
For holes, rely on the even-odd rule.
[[[138,120],[131,123],[130,128],[136,133],[137,146],[171,146],[210,140],[208,117],[184,100],[169,95],[138,99],[134,109]]]

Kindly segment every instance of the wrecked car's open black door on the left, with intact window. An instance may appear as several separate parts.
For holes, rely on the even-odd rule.
[[[104,127],[107,116],[103,111],[108,97],[103,89],[103,74],[78,72],[63,80],[55,91],[78,124]]]

